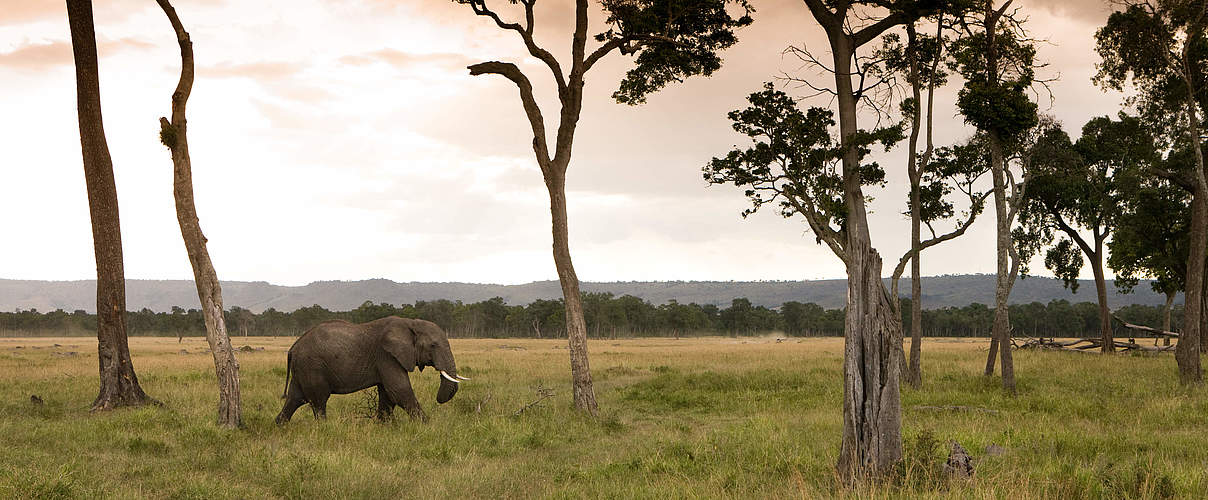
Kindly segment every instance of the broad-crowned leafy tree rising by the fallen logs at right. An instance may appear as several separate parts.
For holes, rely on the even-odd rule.
[[[1082,263],[1091,262],[1099,304],[1099,335],[1103,351],[1115,350],[1111,310],[1104,274],[1104,242],[1116,231],[1122,187],[1136,185],[1137,175],[1152,163],[1157,152],[1154,139],[1139,120],[1122,116],[1093,118],[1082,127],[1082,136],[1071,144],[1059,128],[1050,130],[1035,146],[1030,165],[1030,188],[1020,214],[1022,231],[1017,239],[1026,274],[1027,262],[1046,249],[1045,267],[1078,291]],[[1084,236],[1084,232],[1090,234]],[[1055,244],[1057,234],[1061,239]]]

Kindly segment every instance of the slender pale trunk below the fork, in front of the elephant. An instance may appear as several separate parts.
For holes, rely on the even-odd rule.
[[[553,263],[558,269],[562,296],[567,306],[567,339],[570,348],[570,378],[575,395],[575,408],[594,417],[598,412],[592,372],[587,362],[587,326],[583,321],[583,303],[579,292],[579,277],[570,261],[570,243],[567,231],[567,178],[564,167],[556,167],[554,175],[546,180],[550,188],[550,214],[553,222]]]

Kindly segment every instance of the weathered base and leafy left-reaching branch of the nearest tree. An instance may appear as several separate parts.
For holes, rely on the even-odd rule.
[[[709,184],[743,188],[753,205],[743,216],[773,204],[785,217],[803,217],[818,240],[848,267],[852,275],[844,321],[844,432],[837,470],[848,479],[879,475],[901,458],[898,393],[901,321],[881,281],[879,256],[867,240],[850,236],[859,226],[849,211],[853,204],[844,199],[852,192],[844,181],[853,174],[843,175],[838,168],[850,147],[861,170],[855,174],[856,180],[883,182],[884,170],[879,165],[860,162],[873,143],[888,147],[901,140],[901,128],[861,132],[844,145],[830,135],[829,129],[835,126],[830,110],[801,111],[792,98],[771,83],[750,94],[748,101],[749,107],[731,111],[728,117],[734,130],[750,138],[751,147],[713,158],[704,167],[704,178]],[[855,192],[859,194],[859,188]],[[863,194],[858,208],[863,208]],[[867,231],[866,225],[864,229]],[[858,274],[853,267],[859,268]],[[856,298],[865,303],[856,303]],[[863,357],[866,360],[861,361]]]

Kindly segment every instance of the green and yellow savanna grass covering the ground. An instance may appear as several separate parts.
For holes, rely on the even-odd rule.
[[[367,418],[373,391],[273,424],[292,338],[236,338],[245,429],[214,426],[205,343],[132,338],[163,407],[89,414],[95,341],[0,338],[0,498],[1200,498],[1208,396],[1166,356],[1016,354],[1020,395],[980,376],[985,342],[928,339],[924,388],[904,390],[906,459],[892,483],[848,489],[840,446],[842,339],[592,341],[602,413],[571,408],[564,341],[454,339],[471,377],[430,417]],[[54,344],[59,344],[56,347]],[[17,347],[21,347],[18,349]],[[181,349],[186,353],[181,353]],[[66,353],[76,353],[68,355]],[[538,399],[554,397],[521,415]],[[30,395],[45,403],[34,405]],[[965,406],[978,411],[924,409]],[[947,479],[959,442],[972,479]],[[988,455],[986,448],[1005,449]]]

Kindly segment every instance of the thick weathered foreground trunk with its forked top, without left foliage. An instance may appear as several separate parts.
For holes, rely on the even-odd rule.
[[[856,52],[888,29],[949,7],[937,0],[806,0],[826,33],[835,79],[829,89],[838,107],[842,232],[821,233],[847,266],[847,318],[843,327],[843,443],[836,470],[844,481],[879,476],[901,459],[901,316],[881,281],[881,255],[869,236],[860,164],[876,132],[861,130],[858,104],[870,98],[867,65]],[[899,130],[900,138],[900,130]],[[815,228],[817,233],[817,228]],[[836,254],[840,254],[837,251]]]

